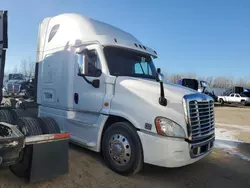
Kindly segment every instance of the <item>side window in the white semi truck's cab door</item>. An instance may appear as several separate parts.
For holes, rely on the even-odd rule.
[[[91,54],[77,54],[78,70],[85,76],[101,76],[101,64],[97,53],[93,50]]]

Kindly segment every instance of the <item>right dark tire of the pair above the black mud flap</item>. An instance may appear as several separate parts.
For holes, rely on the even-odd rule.
[[[56,123],[56,121],[51,117],[40,117],[40,127],[42,129],[43,134],[53,134],[60,133],[60,127]]]

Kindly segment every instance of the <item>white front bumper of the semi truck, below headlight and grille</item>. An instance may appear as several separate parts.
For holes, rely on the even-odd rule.
[[[212,151],[214,137],[199,143],[138,131],[144,162],[162,167],[181,167],[204,158]]]

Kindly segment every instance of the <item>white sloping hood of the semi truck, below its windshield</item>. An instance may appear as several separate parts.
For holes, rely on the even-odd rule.
[[[171,83],[164,84],[167,106],[159,104],[160,83],[152,79],[118,76],[109,113],[129,120],[135,127],[145,129],[145,123],[154,125],[156,117],[166,117],[186,130],[183,96],[198,93]],[[153,132],[156,132],[152,126]]]

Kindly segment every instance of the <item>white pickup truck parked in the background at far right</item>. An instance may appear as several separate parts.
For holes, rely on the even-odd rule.
[[[229,96],[218,96],[218,101],[224,103],[240,103],[242,105],[250,104],[250,97],[245,94],[231,93]]]

